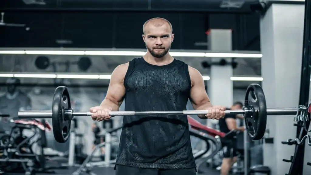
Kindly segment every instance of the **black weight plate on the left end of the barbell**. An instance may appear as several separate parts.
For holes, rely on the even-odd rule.
[[[52,124],[54,138],[58,143],[65,143],[69,138],[71,120],[65,117],[65,109],[71,108],[67,87],[55,89],[52,103]]]

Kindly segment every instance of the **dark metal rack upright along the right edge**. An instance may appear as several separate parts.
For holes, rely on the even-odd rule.
[[[309,102],[309,88],[310,88],[310,73],[311,73],[311,47],[309,46],[311,40],[310,30],[311,20],[311,0],[305,1],[304,10],[304,43],[303,43],[303,57],[302,57],[302,69],[301,69],[301,80],[300,80],[300,97],[299,105],[308,106]],[[306,129],[309,128],[310,121],[306,121]],[[302,125],[302,122],[298,122],[298,125]],[[297,138],[301,140],[307,131],[303,127],[297,127]],[[295,154],[290,165],[288,175],[302,175],[304,167],[304,143],[296,145]]]

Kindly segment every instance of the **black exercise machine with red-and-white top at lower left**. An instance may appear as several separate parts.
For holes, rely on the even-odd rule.
[[[35,172],[47,173],[43,171],[44,168],[41,168],[45,166],[44,155],[35,154],[31,147],[40,139],[33,139],[37,134],[37,128],[45,130],[48,127],[43,127],[36,120],[23,121],[11,119],[10,122],[14,122],[16,125],[12,128],[10,135],[1,137],[0,149],[3,149],[3,154],[0,162],[3,162],[2,170],[5,172],[18,171],[21,170],[19,167],[21,165],[28,175],[32,175]],[[24,130],[31,130],[34,134],[26,137],[22,135]],[[7,165],[6,163],[9,164]],[[12,163],[17,163],[17,167],[12,167]]]

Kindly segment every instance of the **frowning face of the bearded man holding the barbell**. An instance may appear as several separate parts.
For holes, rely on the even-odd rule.
[[[143,40],[150,54],[156,58],[162,58],[169,52],[171,43],[174,40],[174,34],[171,34],[169,24],[162,26],[146,25]]]

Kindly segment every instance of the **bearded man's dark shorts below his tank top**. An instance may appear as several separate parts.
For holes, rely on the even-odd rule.
[[[116,165],[116,175],[196,175],[196,168],[149,169]]]

